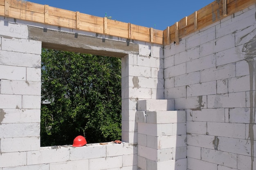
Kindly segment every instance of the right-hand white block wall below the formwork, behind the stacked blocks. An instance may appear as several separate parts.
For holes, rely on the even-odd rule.
[[[165,99],[186,111],[188,170],[254,170],[255,4],[164,47]]]

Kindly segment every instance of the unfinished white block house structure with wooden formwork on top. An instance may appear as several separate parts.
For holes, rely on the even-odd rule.
[[[121,57],[122,144],[40,147],[42,47]],[[255,170],[254,57],[256,0],[164,31],[0,0],[0,170]]]

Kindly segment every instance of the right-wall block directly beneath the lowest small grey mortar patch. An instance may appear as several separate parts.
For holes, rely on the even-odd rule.
[[[201,157],[202,161],[216,163],[222,166],[228,166],[230,168],[236,168],[237,165],[237,155],[234,153],[202,148]]]

